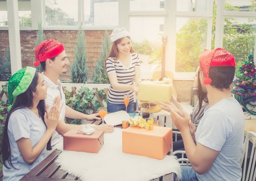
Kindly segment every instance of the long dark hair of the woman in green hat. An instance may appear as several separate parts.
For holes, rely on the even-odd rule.
[[[5,127],[4,127],[4,133],[3,133],[3,143],[2,143],[2,149],[1,149],[1,155],[2,155],[2,160],[3,164],[5,165],[6,168],[9,169],[9,167],[6,164],[6,161],[8,161],[9,165],[16,169],[14,165],[11,163],[11,149],[10,149],[10,142],[9,142],[9,137],[8,137],[8,122],[10,115],[22,108],[31,108],[33,106],[33,92],[36,92],[36,85],[38,83],[38,74],[39,72],[36,71],[35,76],[29,86],[29,88],[22,94],[16,97],[14,104],[12,105],[10,111],[7,114],[6,121],[5,121]],[[39,116],[43,119],[44,124],[44,114],[45,114],[45,100],[40,100],[38,105],[37,105],[38,113]],[[51,149],[51,139],[47,143],[47,150]]]

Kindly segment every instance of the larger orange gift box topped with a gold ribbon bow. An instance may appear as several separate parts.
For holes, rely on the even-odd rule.
[[[152,130],[129,127],[123,130],[123,152],[164,159],[172,146],[172,128],[154,126]]]

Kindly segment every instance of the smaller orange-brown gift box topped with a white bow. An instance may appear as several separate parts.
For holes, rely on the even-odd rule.
[[[63,134],[63,149],[77,152],[98,153],[104,144],[104,131],[95,130],[88,135],[72,129]]]

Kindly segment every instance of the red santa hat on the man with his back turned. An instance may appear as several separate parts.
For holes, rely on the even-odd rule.
[[[235,57],[228,51],[217,48],[214,50],[204,50],[199,58],[200,69],[203,71],[205,79],[204,84],[210,84],[209,78],[210,67],[230,66],[235,67]]]

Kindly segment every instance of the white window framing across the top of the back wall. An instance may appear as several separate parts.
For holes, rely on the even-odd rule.
[[[165,0],[165,9],[163,11],[131,11],[130,1],[118,0],[118,25],[117,26],[95,26],[84,25],[85,30],[104,30],[114,29],[116,27],[125,27],[129,29],[130,17],[164,17],[164,36],[168,37],[166,49],[166,70],[174,73],[174,80],[193,80],[195,72],[175,72],[176,64],[176,18],[205,18],[208,21],[207,30],[207,49],[211,49],[211,28],[213,1],[207,1],[206,12],[186,12],[177,11],[177,1]],[[225,10],[225,1],[216,0],[216,29],[215,29],[215,48],[223,46],[224,19],[235,18],[255,18],[255,11],[228,11]],[[20,27],[20,30],[37,30],[38,22],[42,22],[45,30],[77,30],[84,20],[84,0],[78,0],[78,25],[74,26],[45,26],[45,2],[46,0],[31,0],[31,27]],[[122,12],[122,13],[120,13]],[[0,30],[8,30],[8,26],[1,26]],[[256,40],[255,40],[256,41]],[[256,55],[256,46],[254,46],[254,57]],[[256,64],[256,62],[255,62]]]

